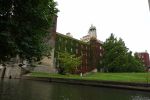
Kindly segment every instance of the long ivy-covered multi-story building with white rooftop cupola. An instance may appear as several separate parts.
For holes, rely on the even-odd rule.
[[[78,40],[73,38],[71,33],[66,35],[56,32],[57,16],[54,17],[53,26],[50,28],[49,44],[52,47],[51,57],[45,57],[41,64],[47,66],[49,71],[61,66],[58,55],[59,52],[68,52],[81,57],[81,65],[78,66],[79,72],[87,72],[100,65],[102,56],[102,42],[97,40],[96,27],[91,25],[88,31],[88,39]],[[47,70],[48,71],[48,70]],[[55,70],[56,71],[56,70]]]

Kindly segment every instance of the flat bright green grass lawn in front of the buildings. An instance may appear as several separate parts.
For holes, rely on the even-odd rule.
[[[89,73],[84,76],[80,75],[60,75],[49,74],[42,72],[33,72],[31,76],[34,77],[54,77],[54,78],[71,78],[84,80],[105,80],[118,82],[136,82],[136,83],[150,83],[150,73]]]

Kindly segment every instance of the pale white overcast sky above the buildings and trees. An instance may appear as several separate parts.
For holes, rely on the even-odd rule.
[[[57,32],[74,38],[87,35],[93,24],[97,38],[105,41],[114,33],[133,52],[150,53],[148,0],[55,0],[58,3]]]

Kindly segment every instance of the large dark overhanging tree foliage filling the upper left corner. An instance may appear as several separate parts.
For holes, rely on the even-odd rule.
[[[47,55],[45,38],[57,12],[53,0],[1,0],[0,61],[16,55],[30,60]]]

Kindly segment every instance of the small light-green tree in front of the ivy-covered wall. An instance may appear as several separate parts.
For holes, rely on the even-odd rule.
[[[76,57],[75,55],[71,55],[67,52],[59,52],[59,73],[73,73],[77,69],[77,67],[81,64],[81,57]]]

